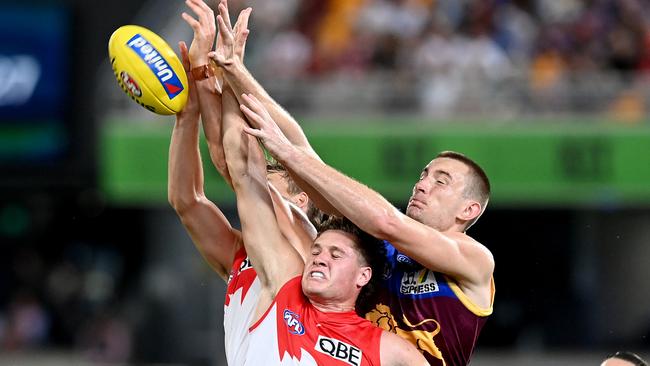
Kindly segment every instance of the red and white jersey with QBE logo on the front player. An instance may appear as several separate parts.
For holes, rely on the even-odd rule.
[[[381,334],[354,311],[316,309],[303,294],[298,276],[280,289],[250,328],[245,362],[230,364],[379,366]]]

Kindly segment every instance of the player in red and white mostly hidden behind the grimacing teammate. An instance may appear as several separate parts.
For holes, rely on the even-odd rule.
[[[191,72],[192,65],[203,64],[201,55],[207,59],[207,52],[214,42],[214,38],[202,37],[209,34],[210,18],[214,27],[214,16],[206,15],[206,9],[209,8],[203,2],[192,5],[193,10],[201,15],[201,23],[196,20],[196,23],[191,23],[196,29],[190,50],[188,51],[184,43],[180,45],[183,67],[189,82],[189,97],[185,108],[176,115],[172,132],[168,195],[170,204],[189,232],[194,245],[215,272],[222,279],[228,280],[224,306],[226,358],[229,364],[240,365],[243,364],[243,357],[248,351],[248,327],[252,323],[257,305],[260,283],[242,244],[241,232],[233,228],[219,207],[205,196],[198,141],[201,115],[212,161],[226,182],[230,182],[221,142],[221,121],[222,118],[241,118],[241,115],[232,92],[225,90],[222,98],[221,94],[214,91],[214,77],[196,80]],[[241,45],[239,57],[243,55],[249,14],[250,9],[243,11],[235,25],[238,30],[235,32],[235,38]],[[208,32],[204,32],[205,28]],[[280,230],[287,240],[296,246],[296,250],[306,253],[316,235],[315,229],[301,211],[307,210],[308,198],[304,192],[289,192],[287,188],[291,184],[283,181],[285,178],[282,174],[270,171],[268,177],[279,184],[278,187],[282,190],[269,187]],[[287,201],[294,202],[301,208],[296,209],[296,205],[289,206]],[[306,240],[300,239],[302,237],[306,237]],[[300,247],[303,243],[306,245]]]

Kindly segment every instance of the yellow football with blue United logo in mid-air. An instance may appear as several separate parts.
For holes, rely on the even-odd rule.
[[[113,73],[124,92],[157,114],[180,112],[187,102],[187,76],[171,47],[137,25],[118,28],[108,41]]]

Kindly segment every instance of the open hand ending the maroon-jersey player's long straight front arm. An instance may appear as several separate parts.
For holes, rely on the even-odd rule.
[[[244,132],[257,137],[273,157],[280,156],[291,148],[291,142],[282,133],[271,115],[253,94],[242,94],[240,109],[252,127],[244,126]]]

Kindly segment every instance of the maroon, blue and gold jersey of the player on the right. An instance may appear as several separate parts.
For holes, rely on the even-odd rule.
[[[387,268],[379,299],[366,319],[413,343],[431,365],[469,363],[478,335],[492,314],[460,290],[456,282],[430,271],[384,242]]]

